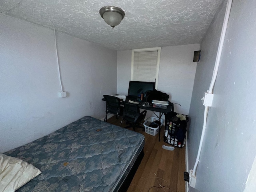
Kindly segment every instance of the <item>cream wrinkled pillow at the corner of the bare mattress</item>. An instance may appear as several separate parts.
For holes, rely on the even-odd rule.
[[[32,164],[0,154],[0,192],[14,192],[40,173]]]

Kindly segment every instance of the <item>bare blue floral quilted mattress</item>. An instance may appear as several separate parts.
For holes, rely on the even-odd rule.
[[[4,154],[42,172],[17,192],[114,192],[143,147],[142,134],[85,116]]]

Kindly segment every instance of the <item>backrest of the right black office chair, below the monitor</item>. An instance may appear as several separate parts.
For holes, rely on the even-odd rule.
[[[140,116],[140,108],[138,104],[124,102],[124,120],[136,122]]]

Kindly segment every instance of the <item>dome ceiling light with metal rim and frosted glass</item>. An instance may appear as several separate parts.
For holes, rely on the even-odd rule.
[[[114,28],[124,18],[124,11],[119,7],[105,6],[100,9],[100,16],[108,25]]]

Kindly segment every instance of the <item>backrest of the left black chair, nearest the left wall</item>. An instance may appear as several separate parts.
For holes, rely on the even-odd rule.
[[[119,115],[121,111],[120,99],[118,97],[111,96],[111,95],[103,95],[103,96],[107,102],[106,112]]]

